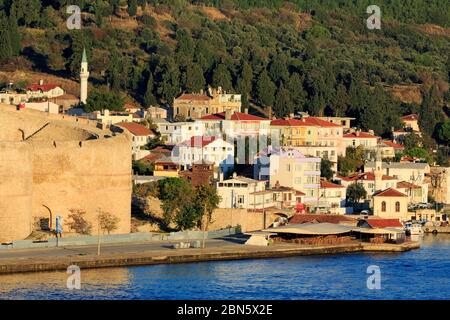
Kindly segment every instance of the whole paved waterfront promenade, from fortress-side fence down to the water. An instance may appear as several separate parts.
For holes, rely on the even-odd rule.
[[[243,237],[209,239],[205,249],[172,249],[171,243],[167,241],[105,244],[102,246],[100,256],[97,256],[96,245],[12,249],[0,252],[0,274],[66,270],[70,265],[87,269],[363,251],[402,252],[419,248],[417,242],[407,242],[401,245],[354,242],[324,246],[276,244],[259,247],[243,245],[245,240]]]

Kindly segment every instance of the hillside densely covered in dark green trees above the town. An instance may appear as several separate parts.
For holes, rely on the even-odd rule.
[[[68,4],[82,9],[81,30],[66,26]],[[450,100],[449,1],[377,1],[381,30],[366,26],[370,4],[0,0],[0,63],[77,79],[85,47],[93,99],[128,96],[148,107],[222,86],[277,117],[352,116],[384,136],[418,113],[425,140],[445,143],[436,130]],[[419,97],[399,99],[398,87]]]

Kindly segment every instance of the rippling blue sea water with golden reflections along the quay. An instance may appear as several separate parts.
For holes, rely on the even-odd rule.
[[[450,299],[450,235],[420,250],[82,270],[0,276],[2,299]],[[367,288],[378,266],[381,289]]]

